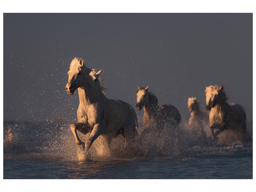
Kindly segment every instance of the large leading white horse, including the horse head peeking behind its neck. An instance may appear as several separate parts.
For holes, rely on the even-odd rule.
[[[85,66],[84,61],[75,57],[70,63],[66,91],[73,95],[76,89],[79,95],[77,110],[78,122],[71,124],[76,144],[85,151],[91,147],[100,135],[106,136],[108,144],[113,137],[121,134],[127,142],[138,135],[137,116],[132,106],[121,100],[110,100],[102,93],[100,71]],[[76,130],[87,134],[89,139],[82,142]]]

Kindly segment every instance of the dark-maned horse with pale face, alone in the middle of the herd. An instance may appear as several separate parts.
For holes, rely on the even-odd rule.
[[[155,132],[164,126],[176,129],[181,121],[181,116],[177,108],[173,105],[158,105],[157,97],[148,91],[148,86],[138,87],[136,107],[144,109],[143,131]]]

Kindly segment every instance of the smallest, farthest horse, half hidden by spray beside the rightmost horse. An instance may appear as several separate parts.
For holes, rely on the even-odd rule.
[[[209,118],[207,112],[201,111],[196,97],[188,98],[188,111],[190,112],[188,127],[190,132],[194,133],[194,140],[206,142],[206,139],[212,136],[208,127]]]

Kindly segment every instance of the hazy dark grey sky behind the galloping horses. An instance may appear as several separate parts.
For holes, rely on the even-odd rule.
[[[204,109],[205,86],[223,84],[252,120],[252,14],[4,13],[4,121],[75,121],[78,94],[65,91],[75,56],[104,69],[109,99],[135,108],[149,84],[188,119],[188,97]]]

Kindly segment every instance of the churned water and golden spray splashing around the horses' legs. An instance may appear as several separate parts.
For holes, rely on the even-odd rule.
[[[70,123],[4,123],[4,161],[110,161],[172,159],[184,160],[198,156],[232,155],[252,152],[251,143],[219,144],[201,128],[191,129],[182,122],[177,132],[171,127],[140,132],[132,144],[119,135],[108,147],[104,137],[97,138],[87,154],[75,143]],[[251,128],[250,125],[248,126]],[[226,134],[226,133],[224,133]],[[82,141],[89,134],[78,132]]]

